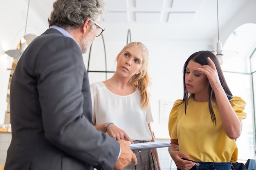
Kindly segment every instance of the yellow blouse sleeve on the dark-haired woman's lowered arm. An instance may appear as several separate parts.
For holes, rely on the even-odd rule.
[[[171,113],[169,115],[169,121],[168,121],[168,129],[169,129],[169,135],[171,139],[178,139],[177,137],[177,118],[178,113],[180,111],[180,103],[182,102],[181,99],[178,99],[174,102],[173,108],[171,109]]]

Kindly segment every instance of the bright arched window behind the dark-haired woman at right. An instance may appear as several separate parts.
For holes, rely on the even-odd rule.
[[[242,97],[247,103],[247,118],[243,120],[243,131],[236,141],[238,159],[255,159],[256,24],[247,23],[236,28],[222,49],[230,50],[223,55],[221,66],[229,88],[234,96]]]

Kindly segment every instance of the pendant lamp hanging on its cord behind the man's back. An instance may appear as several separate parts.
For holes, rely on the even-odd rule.
[[[30,2],[30,0],[29,0],[29,2]],[[28,17],[28,14],[29,14],[29,3],[27,6],[27,17]],[[10,57],[13,57],[13,58],[17,58],[17,59],[22,55],[22,53],[25,50],[26,45],[27,45],[26,40],[25,40],[26,30],[27,30],[27,18],[26,18],[26,25],[25,25],[25,35],[24,35],[24,38],[22,37],[20,40],[20,49],[7,50],[7,51],[5,51],[5,53],[7,55],[9,55]]]

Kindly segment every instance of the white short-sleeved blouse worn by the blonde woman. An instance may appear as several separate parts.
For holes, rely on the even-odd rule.
[[[112,122],[124,130],[132,141],[152,139],[148,123],[153,122],[150,105],[141,108],[139,89],[130,95],[120,96],[112,93],[103,82],[91,84],[92,122],[100,125]]]

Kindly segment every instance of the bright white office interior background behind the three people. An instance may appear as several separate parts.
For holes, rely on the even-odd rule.
[[[18,59],[5,51],[19,49],[49,28],[54,0],[0,2],[0,124],[9,124],[9,86]],[[234,96],[242,97],[247,119],[237,139],[238,161],[255,159],[256,0],[105,0],[105,28],[83,55],[90,84],[115,71],[115,57],[128,43],[139,41],[149,50],[152,129],[157,140],[169,140],[168,115],[183,97],[182,68],[196,51],[216,53],[222,42],[221,65]],[[217,8],[218,7],[218,8]],[[4,164],[11,132],[0,133],[0,164]],[[159,148],[163,170],[172,168],[167,148]]]

